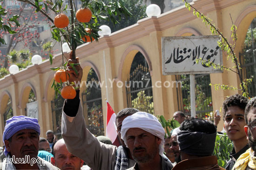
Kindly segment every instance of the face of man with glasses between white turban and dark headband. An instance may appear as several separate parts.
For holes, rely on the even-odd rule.
[[[173,141],[171,137],[164,139],[164,152],[168,159],[172,162],[176,162],[176,157],[179,154],[179,145],[177,141]]]

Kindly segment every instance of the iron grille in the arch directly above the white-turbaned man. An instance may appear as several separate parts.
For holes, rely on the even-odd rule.
[[[125,82],[128,107],[154,114],[153,90],[149,69],[139,64]]]

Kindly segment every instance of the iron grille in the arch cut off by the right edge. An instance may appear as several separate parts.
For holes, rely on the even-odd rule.
[[[252,78],[248,85],[249,97],[256,96],[256,18],[250,24],[244,41],[243,53],[239,53],[243,79]]]

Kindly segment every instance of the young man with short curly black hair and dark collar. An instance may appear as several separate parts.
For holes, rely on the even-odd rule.
[[[224,128],[234,145],[226,170],[232,170],[238,157],[249,148],[244,132],[244,110],[247,103],[248,99],[240,94],[231,95],[223,102]]]

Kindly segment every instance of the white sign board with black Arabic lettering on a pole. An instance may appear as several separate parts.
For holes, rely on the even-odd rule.
[[[222,65],[219,36],[162,37],[163,75],[222,73],[205,63]],[[202,62],[196,63],[197,58]],[[204,61],[204,62],[203,62]]]

